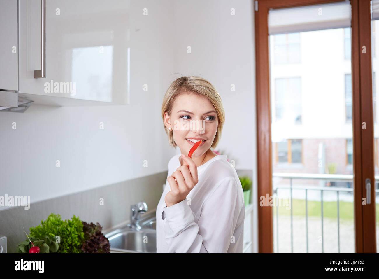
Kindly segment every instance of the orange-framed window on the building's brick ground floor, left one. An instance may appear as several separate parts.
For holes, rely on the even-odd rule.
[[[302,163],[302,140],[287,139],[276,142],[277,163]]]

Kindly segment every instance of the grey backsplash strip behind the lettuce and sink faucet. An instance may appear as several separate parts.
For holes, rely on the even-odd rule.
[[[130,206],[142,200],[150,211],[158,205],[167,171],[106,185],[96,189],[70,194],[41,202],[31,203],[30,209],[14,207],[0,211],[0,235],[7,237],[7,252],[14,253],[17,243],[27,239],[25,232],[41,224],[50,213],[60,214],[61,219],[72,216],[91,223],[99,222],[103,230],[130,219]],[[100,205],[104,198],[104,205]]]

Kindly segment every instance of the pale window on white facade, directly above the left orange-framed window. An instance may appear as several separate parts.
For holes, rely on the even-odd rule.
[[[275,118],[301,124],[301,78],[275,79]]]

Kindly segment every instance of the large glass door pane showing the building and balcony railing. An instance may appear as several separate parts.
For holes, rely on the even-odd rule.
[[[273,192],[278,202],[290,198],[293,208],[292,215],[283,206],[273,208],[274,252],[354,252],[354,172],[353,164],[347,164],[353,154],[351,141],[346,142],[352,137],[351,24],[328,25],[349,19],[351,6],[348,1],[338,5],[347,8],[335,13],[321,5],[323,16],[315,7],[309,8],[310,15],[315,15],[312,22],[317,21],[313,26],[318,28],[312,31],[298,31],[311,24],[293,23],[298,19],[287,10],[280,17],[276,16],[279,12],[271,15],[275,22],[271,30],[276,32],[268,38],[271,141],[277,161],[290,160],[273,164]],[[304,18],[304,13],[299,14]],[[288,52],[283,56],[288,59],[280,64],[279,59],[284,61],[279,57],[282,50],[274,49],[278,46],[274,42],[276,36],[285,38],[281,30],[288,28],[296,33],[287,31]],[[330,46],[335,49],[330,51]],[[296,54],[298,63],[294,63]],[[279,143],[282,139],[290,144]],[[320,179],[320,175],[328,175],[328,179]],[[343,180],[338,179],[340,175]],[[338,203],[335,190],[341,188]]]

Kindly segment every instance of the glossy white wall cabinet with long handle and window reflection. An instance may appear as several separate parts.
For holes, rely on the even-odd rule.
[[[130,0],[19,0],[19,96],[128,104]]]

